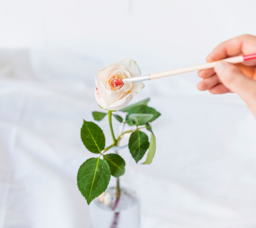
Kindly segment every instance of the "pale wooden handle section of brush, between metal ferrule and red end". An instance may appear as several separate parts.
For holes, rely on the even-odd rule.
[[[221,61],[230,62],[230,63],[239,63],[239,62],[244,62],[244,58],[243,58],[243,55],[240,55],[240,56],[236,56],[236,57],[227,58],[227,59],[224,59]],[[156,79],[156,78],[161,78],[161,77],[167,77],[167,76],[187,73],[187,72],[191,72],[191,71],[210,69],[210,68],[214,68],[217,62],[220,62],[220,60],[216,61],[216,62],[207,62],[204,64],[199,64],[199,65],[195,65],[195,66],[186,66],[183,68],[162,71],[162,72],[158,72],[158,73],[151,73],[148,75],[148,79],[151,80],[151,79]]]

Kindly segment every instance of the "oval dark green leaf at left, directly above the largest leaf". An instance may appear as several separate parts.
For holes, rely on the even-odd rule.
[[[94,122],[83,121],[81,139],[88,151],[92,153],[101,153],[105,147],[104,133]]]

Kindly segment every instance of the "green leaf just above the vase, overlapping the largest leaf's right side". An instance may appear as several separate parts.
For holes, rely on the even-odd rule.
[[[103,158],[106,162],[108,162],[112,176],[120,177],[124,174],[125,161],[121,156],[117,154],[107,154],[103,155]]]

